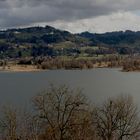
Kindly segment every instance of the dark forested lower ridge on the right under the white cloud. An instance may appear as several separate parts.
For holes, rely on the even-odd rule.
[[[140,45],[140,31],[133,32],[118,31],[107,32],[103,34],[94,34],[90,32],[83,32],[78,34],[80,37],[89,39],[95,45],[107,44],[107,45],[121,45],[121,46],[139,46]]]

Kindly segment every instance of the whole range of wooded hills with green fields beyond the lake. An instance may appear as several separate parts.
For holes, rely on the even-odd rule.
[[[140,32],[72,34],[51,26],[0,31],[0,58],[140,52]]]

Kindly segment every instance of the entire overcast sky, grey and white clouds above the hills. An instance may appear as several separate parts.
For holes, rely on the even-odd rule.
[[[51,25],[74,33],[140,30],[140,0],[0,0],[0,28]]]

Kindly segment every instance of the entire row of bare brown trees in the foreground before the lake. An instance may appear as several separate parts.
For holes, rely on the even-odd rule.
[[[80,89],[50,87],[32,98],[33,111],[3,107],[2,140],[138,140],[139,110],[131,96],[93,105]]]

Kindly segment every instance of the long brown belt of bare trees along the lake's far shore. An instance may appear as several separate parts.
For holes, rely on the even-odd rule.
[[[38,69],[91,69],[96,67],[122,67],[127,59],[119,56],[104,56],[102,58],[59,58],[37,57],[19,59],[19,65],[35,65]]]

